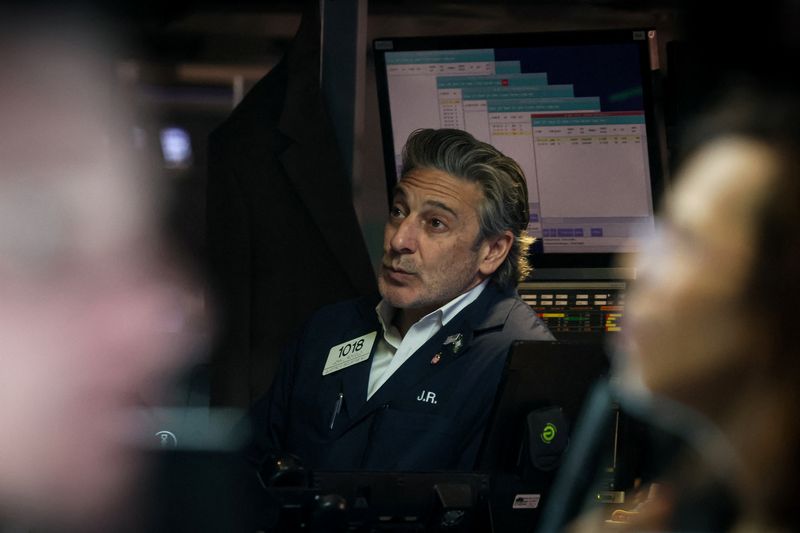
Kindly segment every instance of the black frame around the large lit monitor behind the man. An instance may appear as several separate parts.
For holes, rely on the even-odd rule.
[[[636,32],[636,33],[635,33]],[[634,35],[643,35],[635,39]],[[658,70],[651,57],[654,28],[625,28],[613,30],[575,30],[532,33],[470,34],[412,37],[380,37],[373,40],[372,50],[375,60],[375,75],[378,92],[378,110],[381,123],[381,138],[384,155],[384,171],[389,206],[392,191],[398,176],[395,170],[394,140],[391,112],[389,108],[389,85],[386,73],[387,52],[417,50],[464,50],[473,48],[524,48],[543,46],[586,46],[602,44],[634,43],[639,46],[639,68],[642,78],[642,101],[647,133],[648,163],[650,165],[651,201],[654,216],[664,192],[664,146],[665,136],[661,113],[656,104],[655,93]],[[580,278],[635,277],[629,271],[615,268],[630,264],[631,253],[534,253],[529,254],[534,266],[528,280],[555,277],[573,277],[580,272]],[[624,272],[624,273],[620,273]],[[597,276],[594,275],[597,274]]]

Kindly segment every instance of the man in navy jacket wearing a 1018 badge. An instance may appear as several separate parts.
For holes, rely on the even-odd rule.
[[[470,470],[508,349],[552,340],[516,292],[530,267],[519,165],[460,130],[403,152],[381,299],[316,313],[252,412],[248,450],[324,470]]]

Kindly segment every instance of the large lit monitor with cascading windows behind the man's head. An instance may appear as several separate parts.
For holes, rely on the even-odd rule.
[[[458,128],[528,182],[534,265],[608,266],[653,229],[652,30],[381,38],[387,187],[418,128]]]

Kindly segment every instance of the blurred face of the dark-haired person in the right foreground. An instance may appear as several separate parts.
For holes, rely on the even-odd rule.
[[[734,390],[757,334],[742,293],[774,164],[765,146],[731,138],[685,167],[627,296],[629,378],[699,408]]]

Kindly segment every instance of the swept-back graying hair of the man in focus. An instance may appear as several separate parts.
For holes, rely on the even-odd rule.
[[[516,161],[497,148],[456,129],[419,129],[403,148],[402,173],[432,168],[480,185],[483,201],[478,208],[477,243],[506,230],[514,242],[492,279],[500,287],[516,287],[531,272],[528,248],[533,243],[528,227],[528,187]]]

